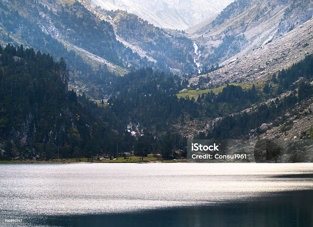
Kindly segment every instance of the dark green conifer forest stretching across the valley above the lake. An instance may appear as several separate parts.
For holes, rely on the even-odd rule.
[[[85,93],[68,90],[63,58],[10,43],[0,48],[0,54],[1,159],[78,160],[129,152],[175,158],[177,151],[185,155],[187,146],[187,137],[175,125],[222,117],[213,129],[194,138],[244,138],[264,122],[285,121],[284,113],[313,93],[311,55],[273,75],[270,85],[245,89],[227,85],[198,98],[177,98],[178,91],[186,88],[178,76],[141,68],[117,77],[107,102],[96,102]],[[286,91],[290,95],[240,112]],[[127,125],[137,125],[138,130],[131,134]]]

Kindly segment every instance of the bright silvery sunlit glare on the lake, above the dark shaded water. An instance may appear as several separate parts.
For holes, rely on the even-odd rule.
[[[4,214],[101,214],[313,189],[313,164],[0,164]]]

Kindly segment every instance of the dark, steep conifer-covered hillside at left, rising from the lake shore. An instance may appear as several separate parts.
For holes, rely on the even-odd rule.
[[[0,46],[0,160],[78,160],[114,152],[119,134],[110,108],[85,93],[76,96],[68,79],[63,58],[54,62],[49,53],[23,45]],[[128,149],[119,141],[121,152]]]

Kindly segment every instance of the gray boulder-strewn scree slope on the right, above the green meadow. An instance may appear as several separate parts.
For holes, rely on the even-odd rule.
[[[304,59],[307,54],[312,54],[312,34],[313,19],[310,19],[298,28],[264,44],[249,54],[239,53],[235,55],[239,61],[226,61],[223,68],[207,74],[211,78],[210,83],[216,85],[222,84],[226,80],[231,82],[239,79],[249,83],[265,81],[278,70],[289,68],[292,64]],[[228,73],[223,74],[224,72]],[[224,77],[217,77],[216,75],[223,75]],[[199,76],[191,78],[189,83],[198,84],[198,81]],[[207,85],[201,84],[201,87]]]

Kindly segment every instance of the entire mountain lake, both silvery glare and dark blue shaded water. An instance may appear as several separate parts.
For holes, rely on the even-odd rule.
[[[3,218],[23,218],[20,226],[312,227],[313,164],[0,164]]]

